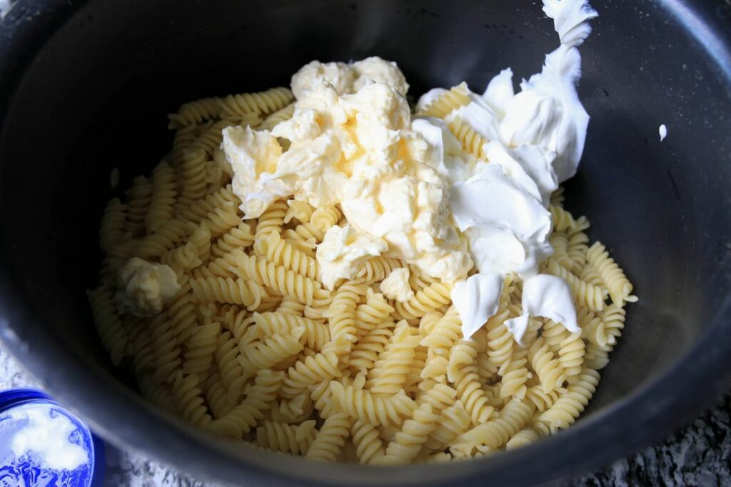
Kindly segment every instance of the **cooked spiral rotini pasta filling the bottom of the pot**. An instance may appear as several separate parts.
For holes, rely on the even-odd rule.
[[[294,111],[287,88],[201,99],[170,116],[173,148],[126,203],[101,222],[99,287],[88,293],[102,342],[159,407],[215,434],[327,461],[403,464],[510,450],[567,428],[583,412],[624,328],[632,285],[586,218],[550,212],[555,253],[542,271],[571,287],[581,331],[531,317],[518,344],[505,326],[523,314],[508,276],[499,312],[464,339],[450,284],[390,257],[325,290],[315,249],[337,207],[280,200],[242,220],[221,129],[271,129]],[[469,102],[455,86],[424,110],[444,117]],[[485,140],[456,119],[465,151]],[[287,141],[281,141],[286,146]],[[154,317],[121,314],[115,275],[131,257],[164,263],[181,291]],[[409,267],[414,297],[393,302],[379,282]]]

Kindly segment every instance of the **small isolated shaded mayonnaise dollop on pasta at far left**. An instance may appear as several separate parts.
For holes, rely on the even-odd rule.
[[[132,257],[117,273],[117,289],[115,298],[121,313],[151,317],[162,312],[162,306],[178,294],[181,285],[170,266]]]

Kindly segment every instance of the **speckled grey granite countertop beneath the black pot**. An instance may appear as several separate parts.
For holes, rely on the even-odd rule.
[[[39,383],[0,345],[0,390]],[[731,486],[731,391],[664,442],[561,486]],[[216,487],[106,445],[105,486]]]

